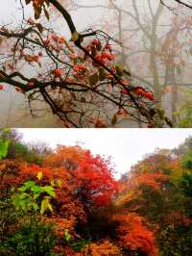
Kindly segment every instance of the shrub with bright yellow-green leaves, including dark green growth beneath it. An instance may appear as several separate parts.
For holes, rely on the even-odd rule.
[[[38,180],[42,172],[38,172]],[[9,232],[0,244],[0,255],[55,256],[53,251],[57,238],[52,231],[53,224],[39,221],[39,215],[53,212],[51,198],[55,196],[54,187],[39,186],[35,181],[26,181],[16,190],[12,188],[12,206],[20,215],[17,231]],[[16,211],[15,211],[16,210]]]

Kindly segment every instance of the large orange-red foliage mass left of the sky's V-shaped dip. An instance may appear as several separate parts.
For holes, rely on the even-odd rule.
[[[86,222],[92,206],[110,204],[117,189],[109,162],[100,156],[92,156],[80,146],[59,146],[43,166],[5,160],[1,162],[0,170],[2,192],[28,180],[41,186],[52,184],[56,192],[51,201],[54,212],[43,218],[56,223],[55,231],[60,237],[65,229],[75,236],[76,223]],[[40,180],[36,176],[38,172],[42,173]]]

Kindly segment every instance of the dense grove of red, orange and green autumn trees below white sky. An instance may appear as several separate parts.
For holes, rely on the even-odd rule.
[[[157,149],[120,180],[80,145],[0,134],[1,255],[192,254],[192,139]]]

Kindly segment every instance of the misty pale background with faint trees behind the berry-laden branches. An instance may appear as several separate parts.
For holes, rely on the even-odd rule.
[[[156,106],[177,127],[191,127],[191,11],[181,6],[171,12],[155,0],[64,1],[79,31],[99,29],[122,42],[114,49],[117,60],[131,70],[133,83],[150,87]],[[19,1],[8,0],[1,9],[1,23],[19,23]],[[27,8],[26,17],[33,11]],[[53,10],[50,24],[69,37],[60,14]],[[23,67],[24,68],[24,67]],[[27,69],[30,72],[29,69]],[[36,104],[36,116],[30,114],[24,95],[7,86],[0,92],[1,126],[61,127],[46,105]],[[44,109],[42,111],[42,108]],[[39,109],[39,111],[37,111]],[[129,117],[114,127],[142,127]]]

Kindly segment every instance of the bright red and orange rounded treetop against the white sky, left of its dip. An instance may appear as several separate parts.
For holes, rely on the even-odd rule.
[[[109,204],[117,192],[109,162],[78,145],[59,146],[57,152],[45,160],[45,165],[57,167],[57,173],[58,167],[65,168],[70,176],[69,184],[75,184],[84,198],[97,205]]]

